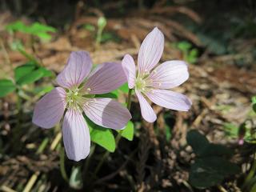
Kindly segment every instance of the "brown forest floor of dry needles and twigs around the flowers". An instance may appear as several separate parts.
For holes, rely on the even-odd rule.
[[[207,14],[198,14],[200,6],[192,5],[189,8],[160,4],[142,10],[131,9],[122,17],[106,15],[107,25],[103,30],[106,42],[95,46],[95,31],[86,30],[86,25],[97,28],[98,18],[104,15],[102,10],[110,13],[116,7],[114,4],[104,5],[102,10],[91,7],[90,13],[85,14],[79,5],[76,6],[72,22],[66,26],[56,26],[58,32],[53,34],[50,42],[38,41],[32,49],[29,45],[30,35],[17,33],[15,36],[24,42],[28,53],[35,55],[56,74],[63,69],[70,52],[74,50],[89,51],[95,64],[121,61],[125,54],[136,58],[143,38],[154,26],[165,34],[161,62],[172,59],[190,59],[187,62],[193,62],[189,64],[189,80],[175,89],[191,98],[191,110],[187,113],[177,112],[153,105],[158,120],[149,124],[141,120],[138,105],[135,105],[138,101],[133,98],[134,141],[122,139],[118,150],[110,154],[94,180],[94,191],[217,191],[216,187],[208,190],[191,188],[188,180],[194,152],[186,143],[186,134],[189,130],[199,130],[210,142],[234,149],[232,162],[241,166],[246,162],[251,152],[243,154],[241,151],[248,150],[250,144],[238,146],[238,135],[233,134],[237,130],[230,127],[238,127],[251,118],[250,99],[256,94],[255,38],[250,38],[250,34],[241,38],[237,38],[239,34],[230,34],[234,38],[226,39],[225,45],[219,44],[230,30],[223,30],[225,34],[220,38],[207,34],[212,27],[206,29]],[[233,15],[232,10],[227,14]],[[215,17],[218,19],[218,16]],[[13,75],[15,66],[27,62],[24,55],[10,49],[14,37],[4,27],[17,19],[33,22],[30,17],[19,18],[10,11],[0,14],[0,78],[6,78],[6,74]],[[42,18],[41,22],[54,25],[51,19]],[[190,45],[186,50],[182,50],[184,42]],[[198,54],[189,58],[188,53],[192,49],[197,50]],[[46,79],[38,84],[50,82],[51,79]],[[20,190],[35,179],[32,191],[37,191],[42,183],[48,191],[69,191],[58,168],[58,151],[51,150],[56,134],[32,125],[30,119],[35,100],[22,103],[22,126],[20,130],[15,129],[18,113],[15,99],[10,94],[10,97],[0,101],[0,146],[4,151],[4,155],[0,156],[0,186],[4,186],[2,189],[5,191],[11,191],[10,188]],[[46,137],[49,137],[48,146],[42,154],[36,154]],[[96,147],[90,171],[94,170],[102,153],[102,148]],[[73,162],[66,161],[70,168]],[[222,186],[228,191],[240,191],[241,176],[227,178]]]

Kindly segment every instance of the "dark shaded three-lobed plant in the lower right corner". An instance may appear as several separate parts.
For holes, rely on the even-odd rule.
[[[191,130],[186,140],[196,154],[194,163],[190,167],[192,186],[199,189],[218,186],[224,178],[238,174],[239,167],[229,161],[233,151],[226,146],[210,143],[197,130]]]

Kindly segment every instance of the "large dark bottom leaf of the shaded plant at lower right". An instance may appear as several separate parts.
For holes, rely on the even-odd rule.
[[[220,184],[231,174],[238,174],[239,167],[224,158],[209,157],[196,159],[190,169],[190,183],[197,188]]]

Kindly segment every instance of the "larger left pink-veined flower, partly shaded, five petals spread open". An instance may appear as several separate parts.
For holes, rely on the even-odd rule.
[[[58,87],[41,98],[34,108],[33,122],[50,128],[60,122],[67,157],[79,161],[90,152],[90,132],[82,112],[91,121],[115,130],[122,129],[131,115],[122,104],[110,98],[94,98],[126,82],[122,65],[106,62],[91,74],[92,62],[85,51],[72,52],[57,77]],[[66,111],[66,113],[65,113]]]

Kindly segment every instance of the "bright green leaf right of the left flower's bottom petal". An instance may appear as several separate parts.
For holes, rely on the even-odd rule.
[[[90,129],[90,140],[102,146],[110,152],[115,150],[115,140],[114,135],[110,129],[102,126],[98,126],[91,122],[89,118],[86,118],[86,122]]]

